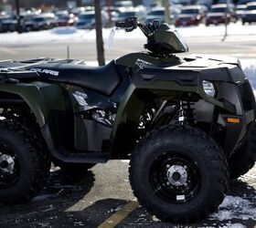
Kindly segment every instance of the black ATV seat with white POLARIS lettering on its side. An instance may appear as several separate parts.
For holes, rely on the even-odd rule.
[[[104,67],[87,67],[83,64],[47,63],[30,68],[47,80],[90,88],[111,95],[121,81],[114,61]]]

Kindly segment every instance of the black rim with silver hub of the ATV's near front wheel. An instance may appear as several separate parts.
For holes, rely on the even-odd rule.
[[[181,152],[169,151],[152,163],[149,180],[155,194],[165,202],[186,203],[196,197],[201,175],[195,161]]]

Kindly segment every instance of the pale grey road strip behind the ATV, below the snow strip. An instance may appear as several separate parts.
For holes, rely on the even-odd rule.
[[[256,36],[231,36],[226,41],[221,41],[222,36],[213,37],[189,37],[187,45],[188,54],[209,54],[240,58],[256,58]],[[15,44],[0,45],[0,60],[4,59],[28,59],[35,57],[67,57],[69,46],[70,58],[84,59],[85,61],[96,60],[96,45],[93,41],[80,41],[70,43],[40,43],[40,44]],[[131,39],[114,41],[111,50],[106,48],[107,60],[141,51],[144,48],[144,40]]]

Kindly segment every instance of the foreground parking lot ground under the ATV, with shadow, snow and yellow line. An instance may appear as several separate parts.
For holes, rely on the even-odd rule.
[[[253,176],[254,175],[254,176]],[[230,184],[219,212],[189,227],[254,227],[256,167]],[[185,227],[162,223],[138,205],[128,181],[128,161],[109,161],[80,179],[52,168],[48,186],[32,202],[0,207],[0,227]]]

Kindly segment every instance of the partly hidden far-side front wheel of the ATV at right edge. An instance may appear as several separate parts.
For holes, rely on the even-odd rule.
[[[250,171],[256,161],[256,127],[245,144],[229,158],[230,180],[235,181]]]

